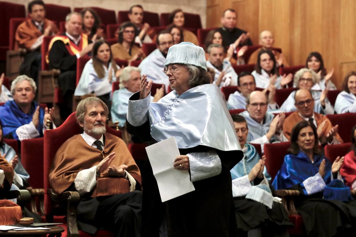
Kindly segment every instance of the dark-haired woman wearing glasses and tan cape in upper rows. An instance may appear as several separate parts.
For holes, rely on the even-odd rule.
[[[146,57],[135,44],[136,26],[131,22],[123,23],[119,31],[119,43],[111,45],[113,58],[127,61],[142,60]]]

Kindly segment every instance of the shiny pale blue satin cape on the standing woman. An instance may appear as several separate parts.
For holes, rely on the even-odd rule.
[[[221,151],[241,150],[234,122],[216,85],[196,86],[180,96],[172,91],[150,103],[148,115],[156,141],[174,136],[178,148],[203,145]]]

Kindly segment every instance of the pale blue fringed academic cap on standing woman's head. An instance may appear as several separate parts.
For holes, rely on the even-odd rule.
[[[168,49],[164,66],[175,63],[191,64],[207,71],[204,49],[190,42],[174,44]]]

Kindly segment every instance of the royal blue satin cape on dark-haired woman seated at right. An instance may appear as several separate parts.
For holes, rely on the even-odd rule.
[[[314,155],[314,163],[312,163],[303,151],[299,151],[296,156],[289,154],[284,157],[284,162],[274,178],[272,186],[275,189],[287,189],[293,185],[303,183],[305,179],[319,172],[320,163],[324,159],[324,181],[328,184],[331,180],[331,162],[325,156]]]

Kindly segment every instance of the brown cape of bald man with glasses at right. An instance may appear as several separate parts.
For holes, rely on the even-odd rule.
[[[316,120],[316,124],[318,124],[318,126],[319,124],[323,123],[324,120],[326,120],[325,126],[323,128],[323,132],[321,133],[321,136],[326,136],[326,134],[328,134],[330,129],[333,128],[333,125],[331,124],[330,120],[326,118],[325,115],[315,113],[315,112],[314,112],[314,117]],[[292,133],[293,126],[300,121],[303,121],[303,118],[299,116],[298,111],[295,111],[294,113],[290,114],[286,119],[284,119],[283,133],[286,136],[286,138],[288,138],[288,140],[290,140],[290,134]],[[338,133],[336,133],[335,136],[337,140],[343,143],[342,138]]]

